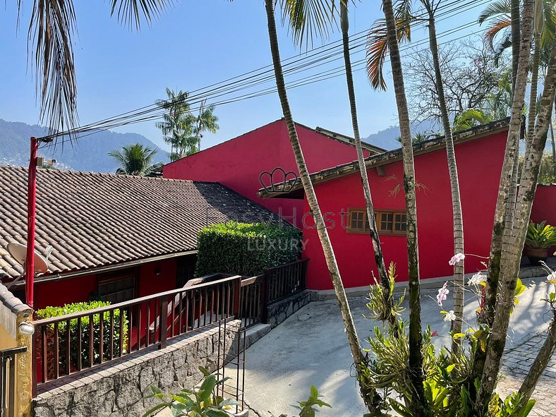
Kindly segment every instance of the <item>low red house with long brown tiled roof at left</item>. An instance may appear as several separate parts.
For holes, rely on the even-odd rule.
[[[0,166],[0,282],[25,299],[28,170]],[[195,272],[207,224],[275,214],[226,186],[40,169],[35,248],[49,270],[35,277],[35,308],[102,299],[117,303],[181,288]]]

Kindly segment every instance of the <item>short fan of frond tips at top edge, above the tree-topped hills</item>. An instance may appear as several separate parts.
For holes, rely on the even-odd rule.
[[[174,6],[174,0],[112,0],[110,15],[128,28],[141,28],[144,20],[148,25],[160,17],[162,11]]]

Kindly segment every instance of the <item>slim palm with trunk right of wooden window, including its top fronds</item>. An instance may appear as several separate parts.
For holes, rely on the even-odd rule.
[[[457,173],[456,155],[454,150],[454,139],[452,137],[452,126],[449,121],[449,114],[446,105],[444,85],[442,83],[442,73],[440,71],[440,58],[438,55],[438,44],[436,37],[435,28],[435,11],[438,6],[442,3],[441,0],[420,0],[421,4],[425,8],[427,18],[418,18],[412,13],[413,0],[401,0],[397,3],[397,10],[395,11],[395,16],[397,18],[397,32],[398,38],[400,30],[403,29],[406,32],[401,32],[405,34],[411,34],[411,24],[419,21],[425,20],[428,25],[429,32],[429,44],[430,52],[433,56],[433,66],[435,69],[435,87],[436,94],[438,97],[438,103],[440,106],[440,114],[442,127],[445,133],[446,142],[446,154],[448,161],[448,171],[450,186],[452,189],[452,214],[454,219],[454,253],[464,253],[464,222],[463,214],[461,212],[461,198],[459,193],[459,179]],[[371,76],[371,82],[373,79],[382,78],[382,66],[384,64],[385,58],[385,47],[382,45],[385,42],[385,31],[383,29],[383,21],[378,21],[373,25],[373,29],[370,32],[370,37],[368,40],[368,74]],[[405,36],[405,35],[404,35]],[[409,36],[405,36],[404,39],[408,41],[411,40]],[[372,82],[373,83],[373,82]],[[384,80],[380,82],[375,82],[373,85],[385,87]],[[461,327],[463,324],[463,314],[464,314],[464,261],[461,260],[454,265],[454,313],[456,315],[456,320],[452,322],[452,330],[454,332],[461,332]],[[454,349],[457,349],[458,342],[454,340]]]

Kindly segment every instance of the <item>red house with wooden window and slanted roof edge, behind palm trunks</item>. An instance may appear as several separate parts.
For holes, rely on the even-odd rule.
[[[461,206],[464,215],[466,272],[482,268],[488,258],[490,236],[497,199],[508,121],[497,121],[454,135],[459,172]],[[452,196],[444,138],[415,145],[418,242],[422,278],[448,277],[454,255]],[[401,150],[392,150],[366,159],[377,227],[385,262],[397,266],[399,281],[407,280],[405,237],[405,198]],[[366,231],[365,200],[357,162],[311,174],[320,208],[326,213],[344,284],[367,286],[377,277],[373,248]],[[266,197],[303,198],[301,184],[290,193],[267,193]],[[303,212],[308,204],[303,200]],[[325,258],[309,215],[303,217],[306,240],[303,256],[310,258],[307,285],[311,289],[330,289]]]

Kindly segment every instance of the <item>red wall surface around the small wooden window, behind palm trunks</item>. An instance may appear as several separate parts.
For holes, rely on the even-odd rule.
[[[474,140],[456,146],[462,210],[464,213],[464,239],[466,272],[481,268],[481,260],[488,257],[494,210],[506,133]],[[452,198],[445,150],[419,155],[415,160],[416,180],[426,186],[417,192],[418,243],[422,278],[443,277],[453,274],[448,260],[454,255]],[[368,171],[375,210],[405,210],[403,171],[401,162],[383,167],[385,176],[376,169]],[[394,179],[395,177],[395,179]],[[390,196],[400,183],[398,195]],[[315,186],[322,212],[330,212],[328,232],[332,240],[342,279],[346,287],[366,286],[373,282],[371,271],[377,277],[373,248],[366,234],[348,234],[341,226],[339,213],[349,208],[365,207],[361,179],[358,174],[320,183]],[[308,205],[304,203],[308,212]],[[347,217],[345,220],[347,224]],[[310,223],[307,222],[310,226]],[[320,241],[314,229],[303,228],[306,249],[303,256],[308,262],[308,288],[331,289]],[[387,265],[395,262],[399,281],[407,280],[407,250],[404,236],[381,236]],[[477,256],[472,256],[477,255]]]

